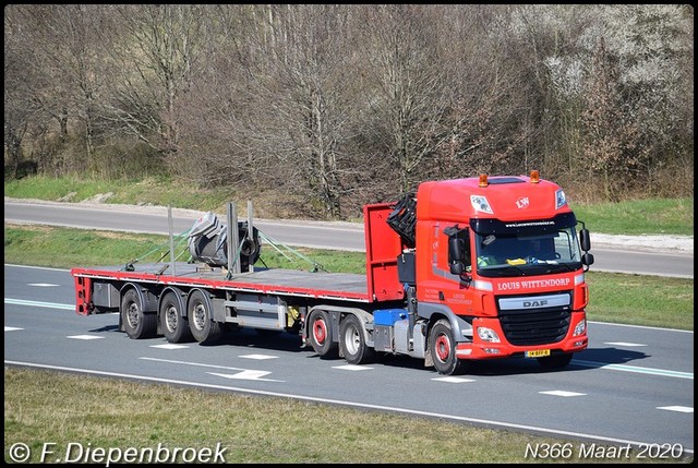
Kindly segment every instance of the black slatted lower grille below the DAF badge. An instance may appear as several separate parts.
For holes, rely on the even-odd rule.
[[[504,336],[516,346],[557,343],[567,335],[569,321],[570,313],[564,310],[507,311],[500,314]]]

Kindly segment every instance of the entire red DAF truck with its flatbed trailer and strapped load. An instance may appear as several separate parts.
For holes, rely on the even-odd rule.
[[[587,348],[589,231],[538,171],[423,182],[363,217],[365,275],[255,268],[257,231],[229,211],[239,230],[200,218],[190,262],[73,268],[76,312],[118,311],[134,339],[285,331],[323,358],[407,355],[446,375],[519,356],[564,368]]]

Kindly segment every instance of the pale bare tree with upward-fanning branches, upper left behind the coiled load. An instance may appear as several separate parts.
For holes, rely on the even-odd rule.
[[[116,5],[121,44],[108,51],[115,129],[156,149],[177,170],[178,101],[189,91],[207,36],[202,5]]]

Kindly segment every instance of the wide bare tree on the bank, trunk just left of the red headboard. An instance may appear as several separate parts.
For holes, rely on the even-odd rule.
[[[309,215],[341,214],[345,123],[352,86],[342,56],[347,10],[340,5],[255,5],[243,10],[252,24],[229,16],[236,39],[219,69],[231,80],[210,76],[206,100],[218,120],[219,142],[229,151],[208,158],[228,167],[230,178],[245,173],[304,196]]]

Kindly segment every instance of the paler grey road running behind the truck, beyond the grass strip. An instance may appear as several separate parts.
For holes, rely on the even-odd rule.
[[[244,213],[244,211],[240,212]],[[192,227],[201,212],[172,209],[173,232]],[[242,216],[241,216],[242,218]],[[84,229],[123,230],[167,235],[168,212],[165,207],[127,205],[86,205],[56,202],[4,201],[5,223],[69,226]],[[225,220],[224,220],[225,221]],[[254,219],[254,225],[270,239],[288,245],[320,249],[364,251],[363,226],[351,223],[317,223]],[[694,277],[693,242],[690,250],[667,249],[665,243],[635,248],[597,243],[591,235],[597,272],[640,275]],[[604,240],[607,237],[604,237]]]

